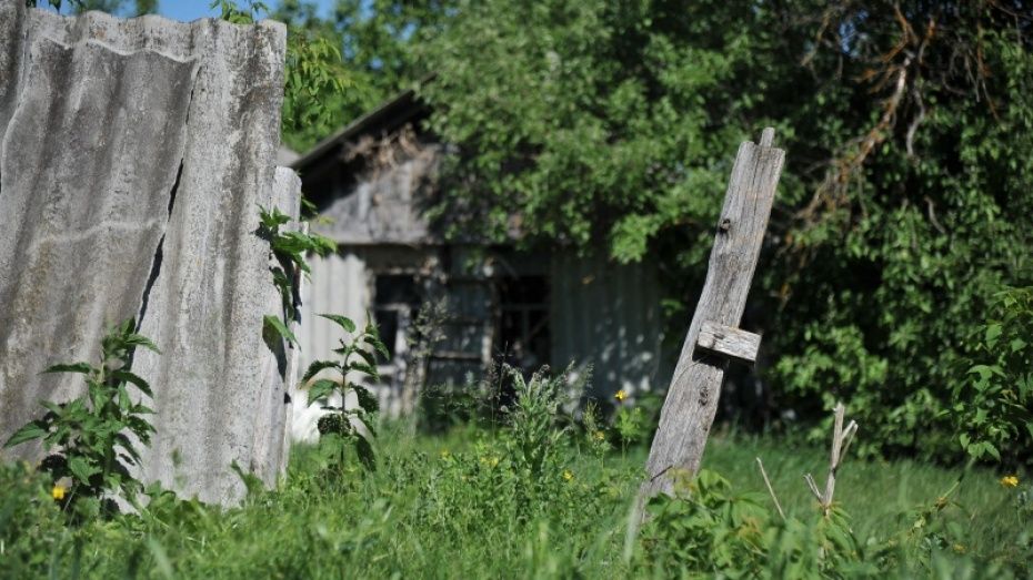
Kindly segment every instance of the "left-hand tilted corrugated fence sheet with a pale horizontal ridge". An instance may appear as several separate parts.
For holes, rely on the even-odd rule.
[[[0,143],[0,439],[41,398],[40,376],[92,360],[96,337],[137,314],[183,156],[193,62],[42,39],[26,53]]]

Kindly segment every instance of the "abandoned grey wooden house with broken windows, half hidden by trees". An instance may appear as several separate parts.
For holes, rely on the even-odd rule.
[[[312,314],[339,313],[359,324],[375,319],[391,354],[378,388],[391,414],[411,409],[423,385],[462,384],[499,362],[529,370],[591,366],[595,397],[654,385],[655,265],[439,235],[424,212],[444,145],[423,129],[429,112],[413,92],[402,93],[292,163],[319,213],[314,231],[338,243],[337,254],[313,257],[303,286],[301,367],[330,356],[339,336]],[[438,314],[421,322],[421,305],[432,304]]]

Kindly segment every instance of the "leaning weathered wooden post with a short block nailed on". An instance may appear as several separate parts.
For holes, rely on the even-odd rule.
[[[783,150],[771,146],[773,139],[774,130],[769,128],[760,145],[746,141],[739,146],[706,282],[650,449],[643,499],[670,495],[675,475],[699,470],[729,360],[756,359],[761,337],[738,325],[785,160]]]

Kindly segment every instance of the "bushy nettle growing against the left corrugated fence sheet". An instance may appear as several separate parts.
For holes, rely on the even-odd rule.
[[[100,499],[121,493],[134,501],[142,484],[129,471],[139,465],[136,439],[150,442],[154,427],[148,419],[150,408],[130,395],[133,386],[148,397],[151,387],[130,370],[137,347],[158,353],[150,339],[133,332],[132,318],[112,327],[101,340],[101,357],[97,365],[66,363],[53,365],[44,373],[76,373],[86,378],[84,395],[68,403],[41,401],[47,414],[27,424],[11,436],[4,447],[41,439],[43,447],[56,452],[48,456],[40,469],[54,482],[53,497],[66,507],[78,500]]]

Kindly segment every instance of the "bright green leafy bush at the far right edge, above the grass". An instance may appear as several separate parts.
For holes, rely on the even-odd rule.
[[[1033,454],[1033,287],[995,294],[990,319],[973,329],[972,354],[959,362],[950,416],[975,458],[1010,464]]]

